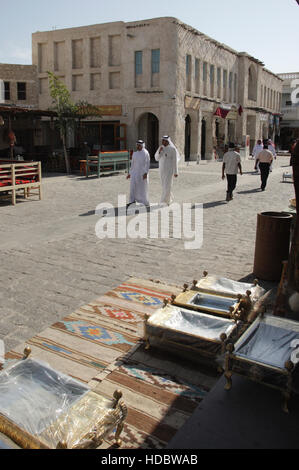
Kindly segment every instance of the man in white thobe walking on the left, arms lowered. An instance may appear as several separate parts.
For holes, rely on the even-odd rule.
[[[132,163],[127,179],[131,180],[129,205],[140,202],[149,206],[148,201],[148,181],[150,169],[150,155],[145,148],[143,140],[136,142],[136,151],[132,155]]]

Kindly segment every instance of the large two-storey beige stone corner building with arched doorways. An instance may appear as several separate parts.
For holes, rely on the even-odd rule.
[[[185,160],[197,160],[221,155],[229,141],[245,155],[246,143],[278,133],[282,80],[175,18],[37,32],[32,60],[41,109],[51,106],[47,71],[74,101],[101,109],[102,119],[82,123],[73,146],[133,148],[143,138],[153,156],[168,134]]]

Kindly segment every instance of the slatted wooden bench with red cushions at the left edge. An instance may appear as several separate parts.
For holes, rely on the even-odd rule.
[[[0,193],[11,192],[11,202],[16,204],[16,192],[23,191],[27,199],[31,190],[37,189],[39,199],[41,190],[41,162],[7,163],[0,160]]]

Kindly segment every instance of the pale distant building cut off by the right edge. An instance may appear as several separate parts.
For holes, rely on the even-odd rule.
[[[282,87],[281,148],[289,150],[293,139],[299,139],[299,72],[280,73]]]

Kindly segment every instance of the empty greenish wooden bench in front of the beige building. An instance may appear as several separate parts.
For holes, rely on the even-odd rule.
[[[86,178],[91,175],[99,178],[103,173],[118,173],[123,170],[127,173],[130,170],[128,151],[100,152],[98,156],[90,155],[86,159]]]

